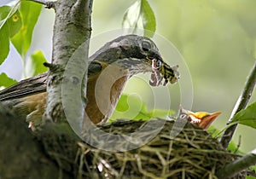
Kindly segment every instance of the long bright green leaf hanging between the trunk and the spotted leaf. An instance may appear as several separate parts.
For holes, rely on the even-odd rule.
[[[22,26],[20,31],[11,39],[21,56],[25,56],[32,42],[32,32],[41,13],[42,5],[29,1],[21,1],[20,15]]]

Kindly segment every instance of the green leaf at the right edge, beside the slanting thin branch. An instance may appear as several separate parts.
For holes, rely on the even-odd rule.
[[[253,102],[253,104],[246,109],[242,109],[240,112],[236,113],[232,120],[232,123],[233,122],[238,122],[239,124],[256,129],[256,102]]]

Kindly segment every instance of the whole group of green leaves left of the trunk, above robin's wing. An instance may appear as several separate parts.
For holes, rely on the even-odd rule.
[[[0,65],[9,54],[10,40],[15,45],[21,57],[25,59],[26,52],[32,42],[32,32],[38,21],[41,9],[42,5],[28,1],[19,1],[13,7],[0,7]],[[45,58],[42,52],[35,52],[31,56],[30,65],[32,68],[29,69],[31,76],[47,70],[43,66],[44,61]],[[4,87],[16,83],[15,80],[9,78],[5,73],[1,74],[0,80],[0,86]]]

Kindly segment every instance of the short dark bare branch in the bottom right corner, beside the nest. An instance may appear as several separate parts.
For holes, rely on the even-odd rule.
[[[242,170],[246,170],[248,167],[256,164],[256,154],[249,153],[240,159],[236,159],[229,165],[224,166],[221,170],[218,170],[217,176],[219,179],[230,178],[236,176]]]

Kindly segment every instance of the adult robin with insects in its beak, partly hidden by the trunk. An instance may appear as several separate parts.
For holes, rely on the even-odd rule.
[[[179,78],[177,66],[169,66],[162,60],[155,43],[137,35],[116,38],[90,56],[85,113],[93,123],[108,120],[125,83],[139,72],[151,72],[149,84],[153,86],[160,85],[163,80],[163,85],[174,84]],[[0,101],[37,126],[47,101],[47,74],[27,78],[2,90]]]

